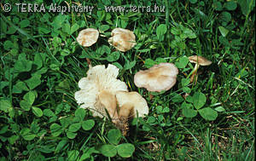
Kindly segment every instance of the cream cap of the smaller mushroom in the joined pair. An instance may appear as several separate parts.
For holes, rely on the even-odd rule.
[[[131,116],[136,118],[137,114],[138,117],[148,115],[148,103],[137,92],[118,91],[116,93],[116,100],[119,105],[119,117],[126,118],[127,116]]]

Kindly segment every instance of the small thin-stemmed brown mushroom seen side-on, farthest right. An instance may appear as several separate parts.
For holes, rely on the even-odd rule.
[[[210,66],[212,64],[212,61],[207,60],[205,57],[198,56],[198,55],[189,56],[189,61],[191,63],[195,63],[194,70],[193,70],[192,75],[190,77],[190,83],[193,82],[193,80],[195,78],[195,74],[196,74],[199,66]]]

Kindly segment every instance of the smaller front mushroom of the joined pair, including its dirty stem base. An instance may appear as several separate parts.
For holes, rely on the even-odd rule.
[[[122,131],[123,135],[126,135],[129,130],[128,119],[130,117],[143,118],[148,115],[148,103],[137,92],[118,91],[116,100],[119,105],[119,117],[113,123]]]

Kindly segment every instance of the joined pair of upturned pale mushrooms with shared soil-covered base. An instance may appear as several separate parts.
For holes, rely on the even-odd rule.
[[[127,132],[128,118],[144,117],[148,104],[137,92],[128,92],[124,82],[117,79],[119,68],[111,64],[90,67],[86,78],[79,80],[74,95],[82,108],[88,108],[94,117],[108,117],[123,131]],[[108,114],[107,114],[108,112]]]

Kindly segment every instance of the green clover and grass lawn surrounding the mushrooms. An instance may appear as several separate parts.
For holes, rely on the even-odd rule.
[[[61,0],[53,3],[67,6]],[[0,160],[254,159],[255,1],[117,0],[111,5],[155,3],[165,5],[166,12],[106,13],[103,6],[109,1],[83,3],[95,7],[91,14],[21,13],[15,3],[10,12],[1,9]],[[160,25],[166,32],[157,32]],[[116,26],[133,31],[137,45],[112,61],[108,56],[115,49],[108,37]],[[75,37],[87,27],[104,37],[83,49]],[[201,66],[197,83],[187,84],[194,66],[190,55],[204,56],[212,65]],[[93,118],[87,110],[80,122],[90,120],[94,126],[70,128],[79,123],[73,95],[88,71],[85,58],[93,66],[118,66],[119,79],[148,101],[148,116],[131,120],[129,135],[120,136],[117,144],[109,136],[115,126],[108,118]],[[160,62],[179,68],[176,85],[161,93],[137,88],[134,74]],[[184,100],[185,93],[204,95],[201,108],[218,111],[218,117],[209,120],[197,113],[188,118],[184,108],[197,105]],[[124,143],[135,147],[130,158],[104,156],[103,145]]]

